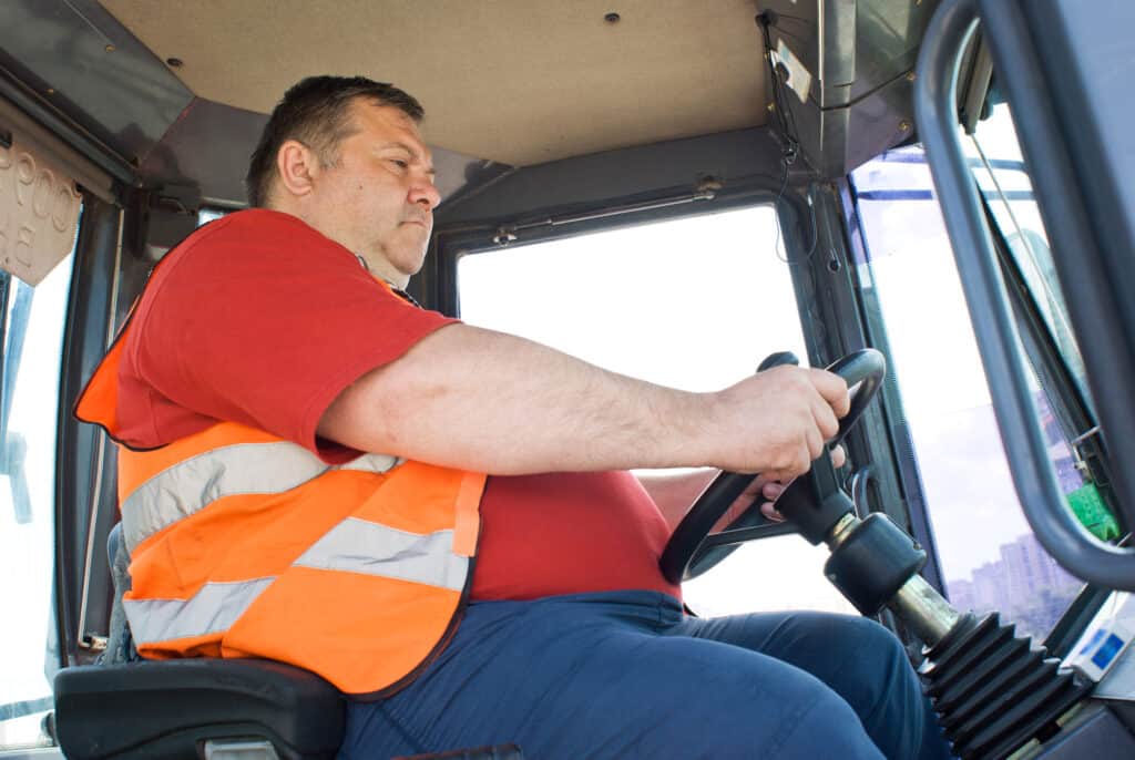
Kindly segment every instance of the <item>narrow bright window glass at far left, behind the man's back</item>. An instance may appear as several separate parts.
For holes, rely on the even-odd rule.
[[[2,276],[3,408],[0,457],[0,750],[50,744],[54,640],[56,420],[74,253],[35,288]]]

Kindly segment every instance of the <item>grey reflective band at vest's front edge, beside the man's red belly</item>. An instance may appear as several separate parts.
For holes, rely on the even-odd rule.
[[[347,517],[327,531],[293,565],[461,591],[469,575],[469,558],[453,554],[452,549],[452,530],[421,535]]]

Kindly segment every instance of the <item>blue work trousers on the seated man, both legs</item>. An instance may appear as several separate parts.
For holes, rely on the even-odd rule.
[[[352,702],[342,758],[950,757],[891,632],[822,613],[695,618],[648,591],[470,605],[410,686]]]

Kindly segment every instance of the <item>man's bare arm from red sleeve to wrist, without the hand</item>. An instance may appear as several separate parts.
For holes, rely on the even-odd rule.
[[[698,445],[712,404],[707,395],[454,324],[345,391],[320,433],[495,474],[670,467],[712,458]]]

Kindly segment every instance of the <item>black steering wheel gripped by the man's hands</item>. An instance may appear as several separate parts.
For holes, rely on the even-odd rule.
[[[799,364],[799,361],[790,353],[773,354],[760,363],[758,372],[781,364]],[[874,348],[864,348],[848,354],[826,369],[843,378],[848,388],[851,389],[851,407],[840,420],[839,432],[827,441],[825,448],[830,449],[843,440],[848,431],[863,416],[864,409],[871,404],[875,394],[878,392],[886,372],[886,361]],[[785,489],[785,493],[789,490],[794,490],[797,483],[804,485],[802,481],[813,478],[813,471],[817,466],[831,468],[827,450],[812,463],[812,470],[808,474],[792,481]],[[658,560],[662,574],[669,582],[678,584],[697,577],[728,557],[737,549],[738,544],[745,541],[790,533],[796,530],[790,523],[776,523],[762,515],[757,506],[758,499],[731,522],[725,530],[717,533],[711,532],[725,510],[756,478],[756,474],[723,472],[706,487],[706,490],[695,500],[678,527],[674,529],[662,552],[662,558]],[[825,480],[834,482],[834,478]]]

